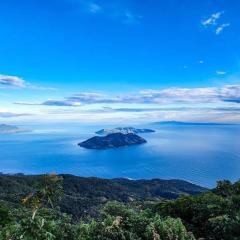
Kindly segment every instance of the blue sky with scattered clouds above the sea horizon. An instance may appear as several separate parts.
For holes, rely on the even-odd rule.
[[[239,122],[239,11],[237,0],[1,1],[0,120]]]

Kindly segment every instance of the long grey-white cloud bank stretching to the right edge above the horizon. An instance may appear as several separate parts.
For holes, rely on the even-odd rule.
[[[137,93],[110,96],[95,92],[76,93],[64,99],[49,99],[36,105],[45,106],[82,106],[90,104],[172,104],[172,103],[221,103],[235,102],[240,99],[240,85],[205,88],[166,88],[147,89]],[[21,103],[34,105],[35,103]]]

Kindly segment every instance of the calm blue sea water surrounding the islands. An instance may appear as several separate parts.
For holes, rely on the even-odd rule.
[[[207,187],[220,179],[240,178],[240,126],[152,125],[148,127],[156,133],[142,134],[148,141],[144,145],[102,151],[77,145],[102,127],[30,126],[31,133],[0,135],[0,171],[174,178]]]

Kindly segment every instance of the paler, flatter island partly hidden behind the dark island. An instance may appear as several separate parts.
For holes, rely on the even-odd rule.
[[[155,130],[152,129],[147,129],[147,128],[134,128],[134,127],[117,127],[117,128],[112,128],[112,129],[101,129],[97,132],[96,134],[99,135],[108,135],[111,133],[123,133],[123,134],[128,134],[128,133],[153,133]]]

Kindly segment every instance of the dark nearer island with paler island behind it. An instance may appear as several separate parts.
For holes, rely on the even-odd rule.
[[[147,141],[134,133],[112,133],[104,137],[95,136],[78,145],[87,149],[108,149],[143,144]]]

